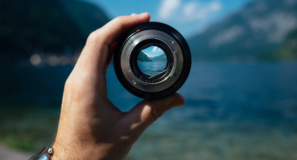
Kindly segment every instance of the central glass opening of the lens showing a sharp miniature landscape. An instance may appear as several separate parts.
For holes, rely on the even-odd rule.
[[[140,71],[145,75],[154,76],[165,70],[167,56],[161,48],[150,46],[142,49],[138,53],[137,65]]]

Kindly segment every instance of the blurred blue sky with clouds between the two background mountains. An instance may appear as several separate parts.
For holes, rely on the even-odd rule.
[[[102,8],[110,18],[148,12],[151,21],[166,23],[185,38],[239,11],[252,0],[83,0]]]

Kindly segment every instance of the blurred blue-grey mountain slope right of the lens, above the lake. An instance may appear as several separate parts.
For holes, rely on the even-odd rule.
[[[297,29],[297,0],[256,0],[188,39],[194,60],[272,58]]]

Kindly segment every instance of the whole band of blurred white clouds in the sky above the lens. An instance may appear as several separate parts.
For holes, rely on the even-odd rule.
[[[205,19],[222,8],[219,0],[199,2],[190,0],[163,0],[159,8],[159,17],[164,20],[195,21]]]

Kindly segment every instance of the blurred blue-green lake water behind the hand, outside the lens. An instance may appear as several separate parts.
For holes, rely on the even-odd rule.
[[[0,68],[2,144],[28,151],[49,145],[72,68]],[[296,68],[296,62],[194,63],[178,91],[185,105],[150,126],[127,160],[296,160]],[[107,88],[122,111],[142,100],[120,85],[113,67]]]

